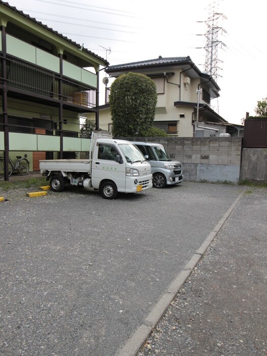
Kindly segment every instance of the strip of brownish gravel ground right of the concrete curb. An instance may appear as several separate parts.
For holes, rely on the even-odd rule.
[[[139,356],[267,354],[267,190],[239,204]]]

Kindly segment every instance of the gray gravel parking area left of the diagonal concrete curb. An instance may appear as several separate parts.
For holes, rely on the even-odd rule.
[[[184,182],[0,204],[1,353],[113,356],[243,191]]]

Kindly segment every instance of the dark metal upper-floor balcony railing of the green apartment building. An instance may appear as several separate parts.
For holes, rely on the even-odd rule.
[[[22,90],[48,98],[60,98],[60,76],[56,73],[25,63],[14,58],[7,61],[7,85],[10,88]],[[4,78],[1,78],[4,83]],[[62,79],[64,101],[80,106],[93,108],[96,106],[96,89],[72,79]]]

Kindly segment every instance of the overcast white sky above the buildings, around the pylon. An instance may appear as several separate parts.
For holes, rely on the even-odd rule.
[[[262,0],[10,0],[69,39],[106,58],[110,65],[162,57],[190,56],[204,71],[209,5],[227,19],[219,22],[226,33],[218,40],[222,62],[217,83],[220,98],[212,105],[230,123],[240,124],[246,112],[254,115],[257,101],[267,96],[267,46]],[[221,32],[220,32],[221,33]],[[105,50],[104,48],[107,50]],[[109,51],[109,49],[111,51]],[[104,91],[104,84],[100,84]],[[197,101],[197,98],[196,98]],[[104,104],[104,102],[100,102]]]

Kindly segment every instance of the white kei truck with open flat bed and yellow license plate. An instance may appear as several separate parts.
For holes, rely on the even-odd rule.
[[[69,184],[115,199],[118,192],[136,193],[153,186],[150,163],[131,142],[93,132],[89,154],[89,159],[40,160],[40,172],[50,180],[51,190],[61,192]]]

